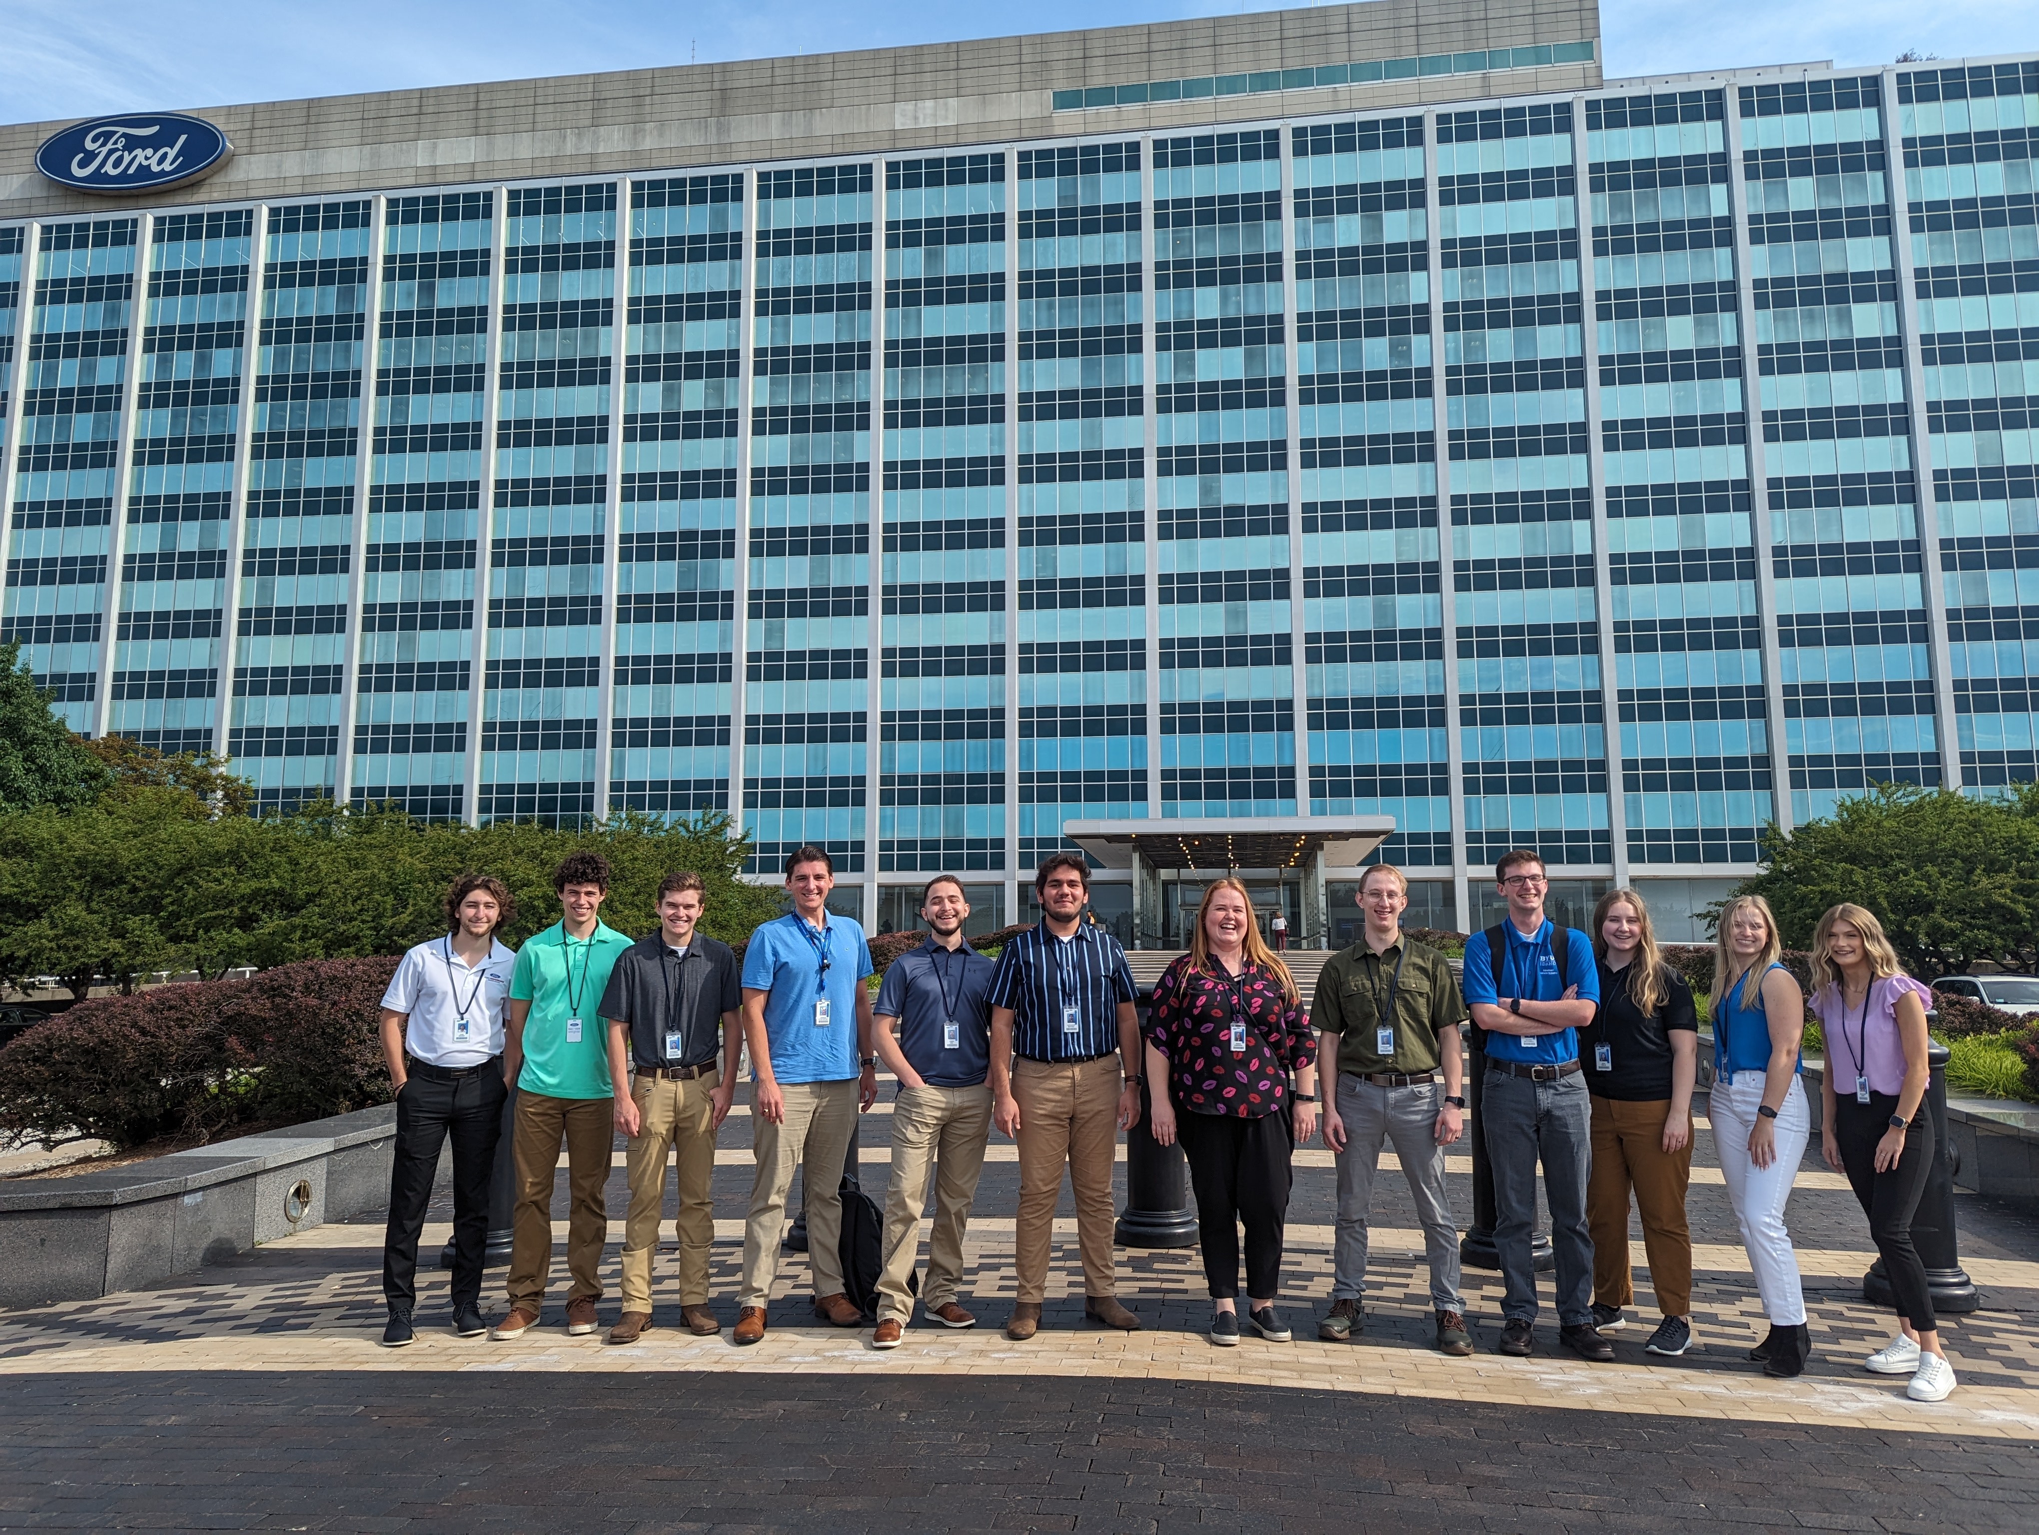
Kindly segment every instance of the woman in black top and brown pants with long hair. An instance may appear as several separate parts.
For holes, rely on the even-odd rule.
[[[1592,1325],[1619,1331],[1633,1303],[1629,1193],[1643,1217],[1650,1284],[1664,1321],[1652,1354],[1678,1356],[1692,1341],[1692,1233],[1684,1188],[1692,1176],[1692,1078],[1698,1013],[1692,989],[1658,950],[1650,907],[1629,889],[1592,909],[1592,954],[1601,962],[1601,1011],[1578,1031],[1578,1058],[1592,1097]]]

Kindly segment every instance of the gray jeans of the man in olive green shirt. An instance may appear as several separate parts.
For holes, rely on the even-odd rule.
[[[1380,1087],[1340,1072],[1338,1117],[1346,1121],[1346,1150],[1338,1154],[1334,1301],[1358,1301],[1366,1290],[1366,1215],[1374,1203],[1380,1148],[1393,1142],[1423,1223],[1431,1309],[1466,1309],[1458,1294],[1458,1223],[1444,1195],[1444,1148],[1435,1135],[1442,1091],[1435,1082]]]

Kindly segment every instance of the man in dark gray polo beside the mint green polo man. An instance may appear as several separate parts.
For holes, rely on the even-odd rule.
[[[612,1343],[634,1343],[650,1327],[650,1260],[665,1209],[665,1158],[677,1152],[679,1315],[701,1337],[720,1331],[708,1309],[708,1254],[716,1243],[716,1131],[736,1095],[744,1034],[736,956],[699,932],[701,877],[667,875],[659,885],[659,932],[616,958],[602,1017],[610,1021],[616,1127],[630,1137],[630,1215],[624,1223],[624,1315]],[[722,1054],[720,1070],[716,1056]],[[628,1080],[636,1068],[636,1082]]]

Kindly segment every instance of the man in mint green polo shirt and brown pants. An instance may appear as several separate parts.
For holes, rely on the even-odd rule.
[[[538,1325],[553,1270],[553,1178],[567,1142],[573,1213],[567,1225],[567,1333],[595,1331],[602,1243],[610,1231],[602,1184],[610,1178],[614,1111],[610,1036],[602,1023],[616,956],[630,940],[604,928],[610,862],[575,852],[553,870],[563,915],[518,950],[510,974],[504,1080],[516,1091],[516,1215],[510,1243],[510,1315],[489,1337],[522,1337]]]

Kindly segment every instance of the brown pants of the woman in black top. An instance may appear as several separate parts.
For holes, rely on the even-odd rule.
[[[1692,1176],[1692,1140],[1664,1150],[1670,1099],[1629,1103],[1592,1099],[1592,1174],[1586,1178],[1586,1229],[1592,1231],[1592,1301],[1635,1301],[1629,1270],[1629,1190],[1643,1217],[1650,1284],[1666,1317],[1692,1313],[1692,1233],[1684,1223],[1684,1186]],[[1690,1117],[1686,1123],[1690,1131]]]

